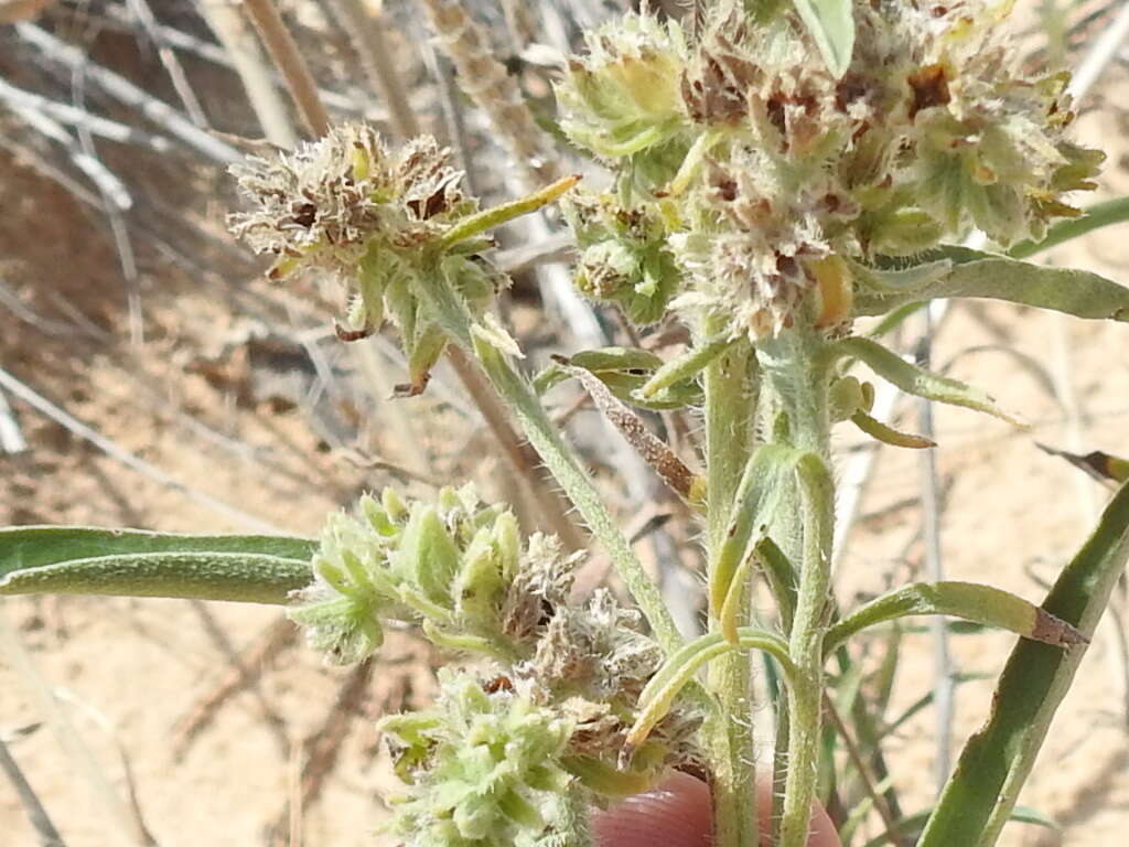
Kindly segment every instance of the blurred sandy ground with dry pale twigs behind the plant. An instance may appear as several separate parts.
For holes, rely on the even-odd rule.
[[[464,479],[514,503],[527,527],[553,524],[536,469],[515,471],[513,439],[483,422],[456,373],[440,366],[422,395],[393,399],[405,374],[391,330],[345,344],[335,286],[263,277],[226,232],[238,207],[226,168],[316,133],[318,116],[292,105],[264,47],[281,26],[332,121],[436,134],[488,202],[552,172],[599,184],[553,136],[551,85],[583,30],[628,6],[0,0],[0,524],[313,535],[364,490],[426,496]],[[1078,137],[1109,154],[1085,203],[1129,191],[1127,9],[1021,0],[1012,23],[1027,69],[1082,69]],[[528,106],[516,128],[498,107],[507,97]],[[1126,238],[1111,227],[1041,259],[1127,282]],[[551,215],[501,233],[495,259],[514,274],[501,309],[531,369],[555,352],[615,343],[666,356],[685,340],[676,326],[640,339],[579,299]],[[931,427],[939,447],[930,468],[839,438],[838,596],[851,603],[939,565],[1039,602],[1109,489],[1036,445],[1129,453],[1129,333],[963,304],[929,326],[908,322],[901,343],[920,349],[924,335],[936,368],[1031,427],[949,409],[929,421],[917,401],[884,398],[887,419]],[[691,631],[701,560],[689,516],[584,395],[563,387],[549,403]],[[694,459],[692,412],[649,421]],[[606,570],[594,551],[580,590]],[[1009,824],[1001,844],[1123,840],[1127,614],[1119,591],[1021,798],[1035,822]],[[379,795],[395,780],[375,721],[426,704],[444,661],[403,632],[374,663],[326,669],[277,610],[186,601],[10,600],[0,638],[0,742],[71,847],[380,844]],[[946,656],[925,625],[905,625],[861,644],[833,678],[885,812],[928,809],[936,769],[986,718],[1012,641],[949,628]],[[763,684],[754,718],[768,762]],[[889,842],[847,745],[834,733],[829,745],[839,776],[826,797],[854,821],[851,844]],[[47,844],[44,831],[0,779],[0,844]]]

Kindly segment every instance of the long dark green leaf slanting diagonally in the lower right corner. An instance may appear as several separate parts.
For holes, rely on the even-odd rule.
[[[1129,484],[1123,484],[1043,609],[1092,637],[1127,559]],[[991,717],[965,745],[919,847],[996,844],[1084,655],[1082,646],[1016,645],[992,697]]]

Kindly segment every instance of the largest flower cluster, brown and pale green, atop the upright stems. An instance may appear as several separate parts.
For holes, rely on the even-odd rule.
[[[829,259],[911,255],[972,228],[1039,238],[1078,213],[1061,195],[1093,187],[1102,156],[1065,137],[1065,77],[1015,67],[1009,6],[859,0],[841,78],[787,10],[754,19],[719,0],[694,40],[647,14],[607,25],[558,88],[564,131],[620,175],[618,209],[581,208],[656,221],[647,243],[676,260],[664,298],[753,340],[819,325]],[[583,288],[655,288],[620,233],[596,250],[592,216],[574,217]]]

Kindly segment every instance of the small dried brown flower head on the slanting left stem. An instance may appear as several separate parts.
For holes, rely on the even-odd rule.
[[[414,286],[443,273],[481,314],[504,277],[478,260],[481,239],[437,252],[452,227],[478,211],[463,195],[450,151],[421,137],[392,151],[366,124],[333,128],[314,143],[231,168],[253,203],[229,226],[256,253],[277,256],[271,277],[320,271],[351,294],[343,338],[378,330],[387,314],[400,330],[410,383],[419,393],[447,343]]]

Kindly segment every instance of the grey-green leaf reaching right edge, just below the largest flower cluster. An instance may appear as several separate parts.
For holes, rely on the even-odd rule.
[[[1091,320],[1129,321],[1129,288],[1089,271],[1032,264],[998,253],[969,247],[942,247],[920,256],[920,264],[901,271],[890,268],[863,272],[865,285],[855,295],[856,315],[884,315],[908,303],[945,297],[975,297],[1005,300],[1022,306],[1062,312]],[[937,262],[952,262],[947,273],[911,271]],[[909,274],[909,276],[908,276]]]

